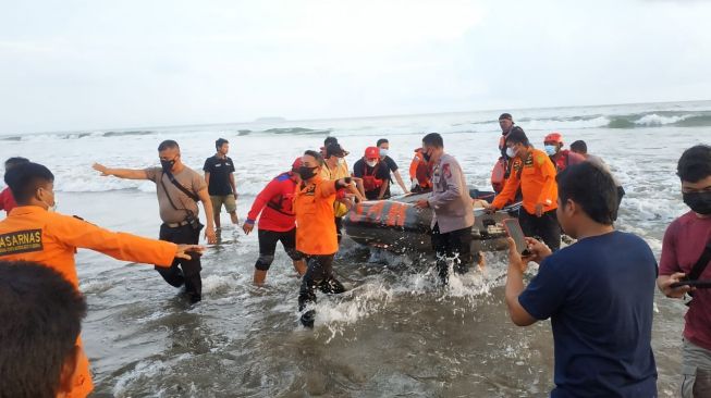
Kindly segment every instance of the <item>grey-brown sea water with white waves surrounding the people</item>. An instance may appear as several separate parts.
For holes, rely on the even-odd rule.
[[[708,101],[7,135],[0,136],[0,158],[23,156],[50,167],[60,212],[155,237],[156,186],[101,177],[94,162],[156,166],[158,144],[175,139],[183,161],[200,171],[214,140],[226,138],[243,221],[261,188],[329,135],[350,151],[350,164],[388,138],[408,182],[414,149],[426,133],[439,132],[467,183],[487,189],[503,111],[539,148],[554,130],[566,147],[584,139],[627,191],[616,227],[640,235],[659,257],[666,225],[686,211],[676,161],[684,149],[711,142]],[[427,259],[369,250],[346,238],[334,270],[350,291],[319,296],[310,331],[298,324],[299,281],[281,248],[267,286],[255,288],[256,234],[245,236],[225,214],[222,224],[222,244],[204,256],[204,301],[197,306],[185,303],[150,265],[79,251],[89,303],[83,338],[97,396],[537,397],[553,386],[550,323],[511,324],[503,253],[487,253],[483,271],[454,276],[442,288]],[[660,396],[672,397],[685,307],[657,295],[655,309]]]

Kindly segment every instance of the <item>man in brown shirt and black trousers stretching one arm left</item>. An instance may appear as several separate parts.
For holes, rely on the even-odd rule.
[[[205,179],[195,171],[183,164],[177,142],[166,140],[158,146],[161,167],[145,170],[108,169],[94,164],[94,170],[102,176],[113,175],[119,178],[149,179],[157,185],[160,217],[160,239],[174,244],[196,245],[200,238],[203,225],[198,220],[197,202],[201,201],[207,220],[205,236],[208,244],[216,244],[212,204]],[[177,268],[180,265],[182,270]],[[203,296],[199,257],[191,260],[175,260],[168,270],[157,268],[156,271],[168,284],[180,287],[185,285],[185,293],[192,302],[198,302]]]

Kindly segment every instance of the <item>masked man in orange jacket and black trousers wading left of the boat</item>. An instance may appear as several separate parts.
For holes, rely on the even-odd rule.
[[[333,223],[333,202],[336,198],[358,191],[351,177],[324,181],[320,176],[323,158],[316,151],[306,151],[302,157],[298,174],[302,183],[296,187],[294,213],[296,214],[296,250],[304,253],[308,269],[302,279],[298,293],[298,310],[304,311],[316,302],[316,289],[327,294],[345,291],[333,276],[333,257],[339,251],[339,239]],[[302,324],[314,326],[316,311],[309,309],[302,314]]]

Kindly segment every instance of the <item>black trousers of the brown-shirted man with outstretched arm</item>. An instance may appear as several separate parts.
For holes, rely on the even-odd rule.
[[[163,224],[160,226],[160,240],[172,241],[176,245],[197,245],[200,240],[200,231],[193,229],[189,225],[171,228]],[[175,259],[170,268],[156,266],[156,271],[171,286],[181,287],[185,284],[185,293],[192,301],[201,299],[203,279],[200,278],[200,271],[203,271],[203,266],[198,256],[193,256],[191,260]]]

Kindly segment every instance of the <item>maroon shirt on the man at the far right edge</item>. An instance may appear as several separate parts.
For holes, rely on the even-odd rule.
[[[662,245],[660,275],[689,274],[711,240],[711,217],[701,219],[692,211],[674,220],[666,228]],[[711,279],[708,265],[699,279]],[[685,315],[684,338],[711,350],[711,289],[697,289]]]

